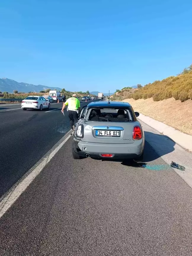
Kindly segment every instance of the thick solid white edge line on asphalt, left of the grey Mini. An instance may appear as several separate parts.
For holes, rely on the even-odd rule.
[[[65,142],[71,137],[69,131],[61,140],[59,140],[53,148],[51,148],[25,175],[7,191],[7,193],[0,199],[0,218],[12,206],[17,198],[25,191],[28,185],[36,178],[42,169],[55,156]]]

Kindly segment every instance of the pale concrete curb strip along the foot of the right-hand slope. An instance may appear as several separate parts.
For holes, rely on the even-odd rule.
[[[145,116],[143,114],[140,114],[138,119],[143,121],[145,124],[149,125],[153,129],[156,129],[161,134],[169,136],[169,138],[175,141],[175,143],[192,152],[191,135],[180,132],[167,124],[156,121],[155,119],[149,116]]]

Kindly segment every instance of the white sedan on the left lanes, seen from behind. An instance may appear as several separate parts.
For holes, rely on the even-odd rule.
[[[23,108],[23,110],[39,109],[42,111],[43,108],[49,109],[50,103],[42,96],[28,96],[25,98],[25,100],[22,100],[21,108]]]

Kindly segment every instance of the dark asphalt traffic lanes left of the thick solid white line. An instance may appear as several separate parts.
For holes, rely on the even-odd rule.
[[[62,106],[51,103],[49,112],[41,112],[0,105],[0,197],[68,132],[68,112],[63,116]]]

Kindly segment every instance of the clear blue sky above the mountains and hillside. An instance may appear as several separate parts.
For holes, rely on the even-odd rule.
[[[192,63],[192,1],[7,0],[0,77],[111,92]]]

